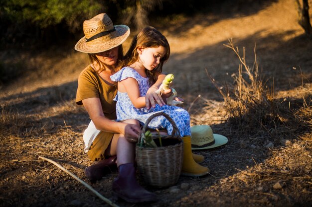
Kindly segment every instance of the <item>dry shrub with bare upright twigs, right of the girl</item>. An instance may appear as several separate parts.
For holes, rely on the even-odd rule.
[[[302,95],[300,98],[278,98],[274,93],[274,81],[269,87],[268,81],[264,81],[264,77],[260,75],[256,47],[253,67],[249,67],[245,48],[243,55],[240,55],[232,40],[225,46],[233,50],[240,61],[238,73],[231,75],[234,83],[220,86],[207,74],[223,96],[231,126],[236,126],[240,132],[249,135],[265,133],[271,138],[279,139],[311,132],[311,92],[304,88],[304,82],[299,88]]]

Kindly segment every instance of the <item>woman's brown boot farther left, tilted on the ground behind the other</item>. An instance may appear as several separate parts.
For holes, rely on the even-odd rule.
[[[91,183],[101,180],[103,176],[117,169],[116,156],[101,159],[85,169],[85,175]]]

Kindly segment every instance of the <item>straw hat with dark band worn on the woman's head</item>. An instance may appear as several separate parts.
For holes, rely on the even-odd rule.
[[[101,53],[121,45],[129,36],[126,25],[113,25],[106,13],[101,13],[83,22],[85,36],[75,45],[83,53]]]

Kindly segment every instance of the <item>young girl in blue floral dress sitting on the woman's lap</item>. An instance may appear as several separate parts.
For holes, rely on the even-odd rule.
[[[177,106],[156,105],[146,108],[145,95],[157,79],[163,63],[168,60],[170,47],[166,38],[154,27],[145,27],[134,37],[130,49],[125,56],[123,66],[111,75],[117,82],[118,92],[115,100],[117,121],[136,119],[144,125],[147,119],[156,112],[162,111],[169,115],[180,131],[184,142],[182,174],[202,176],[208,173],[208,168],[197,164],[191,153],[190,117],[187,111]],[[152,129],[163,128],[172,133],[172,125],[163,116],[155,117],[149,124]],[[186,153],[186,154],[185,154]]]

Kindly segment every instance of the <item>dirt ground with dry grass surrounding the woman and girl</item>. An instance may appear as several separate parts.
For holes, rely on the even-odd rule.
[[[173,87],[185,100],[181,107],[189,111],[191,125],[210,125],[214,133],[229,141],[219,148],[194,151],[205,157],[202,165],[210,168],[210,175],[181,176],[169,188],[146,186],[158,195],[156,203],[118,200],[116,204],[310,207],[311,129],[279,139],[270,134],[242,132],[228,121],[222,96],[206,73],[221,83],[233,81],[231,74],[237,72],[239,60],[223,46],[232,38],[241,53],[246,48],[251,67],[256,45],[261,74],[268,82],[274,80],[276,96],[285,100],[309,97],[312,40],[297,23],[294,1],[227,2],[205,14],[156,22],[152,20],[151,24],[163,32],[171,47],[164,72],[175,75]],[[82,140],[89,118],[84,108],[75,104],[77,77],[88,60],[85,54],[73,50],[76,41],[70,49],[1,51],[3,63],[24,69],[20,77],[0,88],[1,207],[108,206],[64,171],[38,158],[50,158],[90,184],[84,169],[92,162],[83,152]],[[126,48],[129,42],[130,38]],[[306,101],[310,103],[311,96]],[[112,172],[92,187],[111,199],[116,176],[117,172]]]

